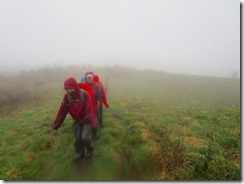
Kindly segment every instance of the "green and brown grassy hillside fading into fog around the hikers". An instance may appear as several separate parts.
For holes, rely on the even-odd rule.
[[[110,108],[94,157],[74,163],[72,119],[51,124],[63,81],[90,70],[109,78]],[[2,77],[2,180],[240,180],[240,80],[76,66]]]

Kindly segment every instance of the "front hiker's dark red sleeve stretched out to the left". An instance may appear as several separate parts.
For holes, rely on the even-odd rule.
[[[59,111],[56,115],[55,120],[53,121],[52,124],[52,128],[57,130],[64,122],[64,119],[66,117],[66,115],[69,112],[69,108],[68,108],[68,96],[67,94],[64,95],[63,97],[63,101],[59,107]]]

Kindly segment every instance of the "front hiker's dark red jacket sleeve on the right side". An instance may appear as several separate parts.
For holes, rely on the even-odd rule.
[[[97,121],[96,121],[96,115],[95,115],[95,111],[93,109],[93,105],[92,105],[92,99],[90,97],[90,95],[88,94],[88,92],[84,92],[85,94],[85,99],[86,99],[86,103],[85,103],[85,108],[86,108],[86,117],[89,117],[89,120],[91,121],[92,124],[92,128],[97,128]]]

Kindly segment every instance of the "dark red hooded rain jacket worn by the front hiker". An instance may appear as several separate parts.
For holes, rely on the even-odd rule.
[[[75,91],[70,95],[70,103],[68,101],[68,94],[64,94],[63,101],[53,121],[52,128],[57,130],[63,124],[68,113],[75,122],[80,122],[82,125],[91,124],[92,128],[96,128],[96,116],[88,92],[79,89],[74,78],[68,78],[64,82],[64,88],[72,88],[75,89]],[[83,100],[81,99],[80,92],[83,93]]]

